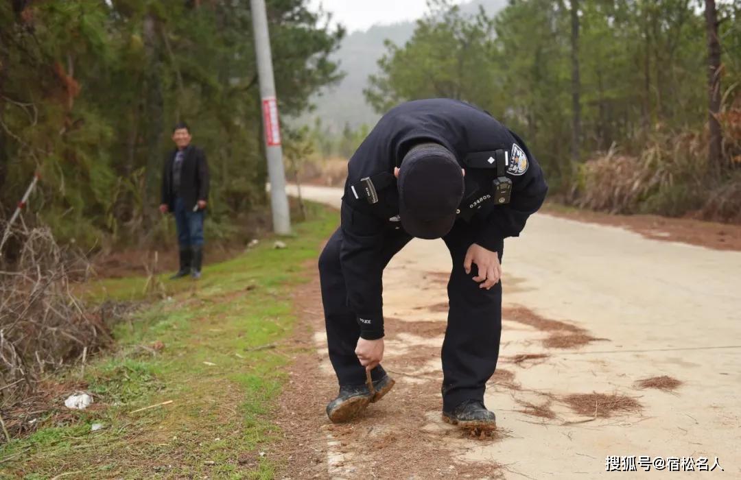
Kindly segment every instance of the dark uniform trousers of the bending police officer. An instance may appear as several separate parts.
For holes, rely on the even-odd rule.
[[[469,224],[459,220],[443,237],[453,259],[453,271],[448,281],[448,327],[442,344],[442,399],[443,409],[448,411],[465,400],[483,401],[486,382],[494,374],[499,357],[502,282],[499,281],[491,290],[485,290],[472,279],[476,276],[475,264],[470,274],[463,270],[465,254],[474,243],[475,234]],[[411,236],[404,230],[387,230],[383,267],[410,240]],[[360,327],[355,313],[348,308],[347,288],[339,261],[341,245],[342,229],[339,228],[319,256],[322,301],[329,357],[339,384],[358,385],[365,383],[365,367],[355,355]],[[502,260],[502,252],[499,252],[499,260]],[[384,375],[385,371],[380,366],[371,372],[373,380]]]

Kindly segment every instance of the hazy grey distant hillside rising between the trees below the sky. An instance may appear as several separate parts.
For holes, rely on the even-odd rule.
[[[507,0],[474,0],[461,5],[464,13],[477,13],[482,5],[489,15],[494,15],[507,4]],[[366,123],[373,125],[378,115],[365,103],[363,89],[368,76],[378,70],[377,61],[386,52],[384,41],[389,39],[395,44],[404,44],[411,39],[415,27],[414,21],[403,21],[391,25],[374,25],[365,31],[350,33],[342,41],[334,58],[339,60],[340,68],[347,73],[345,79],[335,87],[326,89],[313,99],[316,110],[303,116],[301,123],[310,123],[317,116],[322,123],[339,131],[349,123],[358,127]]]

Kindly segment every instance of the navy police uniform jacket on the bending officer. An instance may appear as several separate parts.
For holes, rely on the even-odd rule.
[[[472,214],[468,221],[476,232],[475,242],[488,250],[501,252],[505,238],[519,236],[548,191],[525,142],[483,110],[462,101],[430,99],[410,101],[386,113],[350,159],[342,197],[340,263],[348,307],[364,339],[383,336],[381,250],[385,237],[400,227],[398,217],[394,218],[399,215],[399,193],[394,183],[379,191],[378,203],[368,204],[356,199],[350,186],[367,176],[393,172],[411,147],[425,141],[447,147],[464,168],[472,154],[508,152],[507,176],[513,184],[509,204],[487,201],[496,169],[466,168],[465,196],[459,208],[462,216]]]

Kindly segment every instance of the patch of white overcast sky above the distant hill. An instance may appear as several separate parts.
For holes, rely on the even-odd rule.
[[[427,10],[427,0],[310,0],[309,4],[311,10],[322,4],[333,14],[333,21],[345,25],[349,32],[366,30],[373,24],[419,19]]]

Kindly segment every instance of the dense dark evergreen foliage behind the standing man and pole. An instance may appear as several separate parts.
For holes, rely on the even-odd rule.
[[[306,0],[268,0],[281,113],[340,78],[344,35]],[[210,219],[265,201],[247,0],[0,2],[0,201],[34,171],[30,210],[61,241],[152,240],[172,125],[190,124],[212,176]]]

